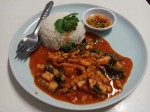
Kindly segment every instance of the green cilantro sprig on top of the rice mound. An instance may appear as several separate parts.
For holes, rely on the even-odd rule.
[[[59,33],[64,33],[68,31],[74,31],[76,30],[76,27],[78,26],[79,19],[77,17],[78,13],[71,13],[63,19],[58,19],[55,22],[55,29]]]

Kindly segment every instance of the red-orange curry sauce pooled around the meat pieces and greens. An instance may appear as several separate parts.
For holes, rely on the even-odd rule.
[[[89,40],[89,39],[94,39],[94,38],[99,38],[99,40],[97,42],[95,42],[95,45],[94,45],[95,48],[100,49],[100,50],[105,51],[105,52],[108,52],[108,53],[113,53],[121,60],[121,63],[123,65],[123,69],[126,73],[125,79],[121,80],[121,84],[124,85],[126,83],[127,79],[129,78],[130,72],[132,70],[132,66],[133,66],[132,60],[127,58],[127,57],[123,57],[123,56],[119,55],[117,52],[115,52],[111,48],[110,44],[104,38],[101,38],[101,37],[99,37],[93,33],[89,33],[89,32],[86,33],[86,39]],[[33,78],[35,77],[36,73],[38,72],[37,64],[39,64],[39,63],[45,64],[47,62],[48,52],[53,52],[53,51],[51,51],[51,50],[45,48],[43,45],[41,45],[38,48],[38,50],[36,50],[30,56],[30,69],[31,69]],[[112,81],[110,81],[110,83],[111,83],[110,85],[112,85],[112,92],[108,94],[107,98],[102,99],[102,98],[95,97],[95,96],[89,94],[88,92],[86,93],[86,92],[83,92],[80,90],[78,90],[78,92],[76,92],[76,93],[69,94],[70,96],[68,94],[64,94],[62,92],[53,93],[53,92],[50,92],[47,89],[43,88],[35,80],[35,85],[38,88],[40,88],[42,91],[44,91],[45,93],[47,93],[51,97],[54,97],[54,98],[61,100],[61,101],[71,102],[70,101],[71,98],[82,99],[83,96],[88,96],[88,100],[86,100],[85,102],[81,102],[80,100],[78,100],[77,102],[75,102],[75,104],[91,104],[91,103],[104,101],[104,100],[106,100],[106,99],[108,99],[114,95],[117,95],[118,93],[120,93],[122,91],[122,89],[117,88],[117,86]],[[88,88],[87,88],[87,90],[88,90]],[[73,103],[73,102],[71,102],[71,103]]]

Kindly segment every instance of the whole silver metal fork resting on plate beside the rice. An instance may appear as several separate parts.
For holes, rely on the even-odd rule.
[[[19,42],[16,50],[16,58],[26,58],[32,51],[36,50],[39,47],[41,43],[41,39],[38,36],[40,23],[49,15],[53,4],[53,1],[50,1],[46,4],[33,33],[27,35]]]

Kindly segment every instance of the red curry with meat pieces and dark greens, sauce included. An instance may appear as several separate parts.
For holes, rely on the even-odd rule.
[[[102,37],[87,32],[73,52],[41,45],[30,56],[35,85],[51,97],[91,104],[119,94],[130,76],[132,60],[115,52]]]

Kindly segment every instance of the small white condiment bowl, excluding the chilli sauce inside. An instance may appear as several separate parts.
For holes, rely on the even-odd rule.
[[[90,26],[90,25],[86,22],[86,20],[87,20],[87,18],[88,18],[89,16],[94,15],[94,14],[106,16],[107,18],[110,19],[111,24],[110,24],[108,27],[106,27],[106,28],[94,28],[94,27]],[[116,15],[115,15],[111,10],[109,10],[109,9],[107,9],[107,8],[96,7],[96,8],[90,8],[90,9],[86,10],[86,11],[83,13],[83,15],[82,15],[82,21],[83,21],[83,23],[85,24],[85,26],[87,26],[87,27],[90,28],[91,30],[95,30],[95,31],[105,31],[105,30],[108,30],[108,29],[112,28],[112,27],[116,24],[116,22],[117,22],[117,17],[116,17]]]

